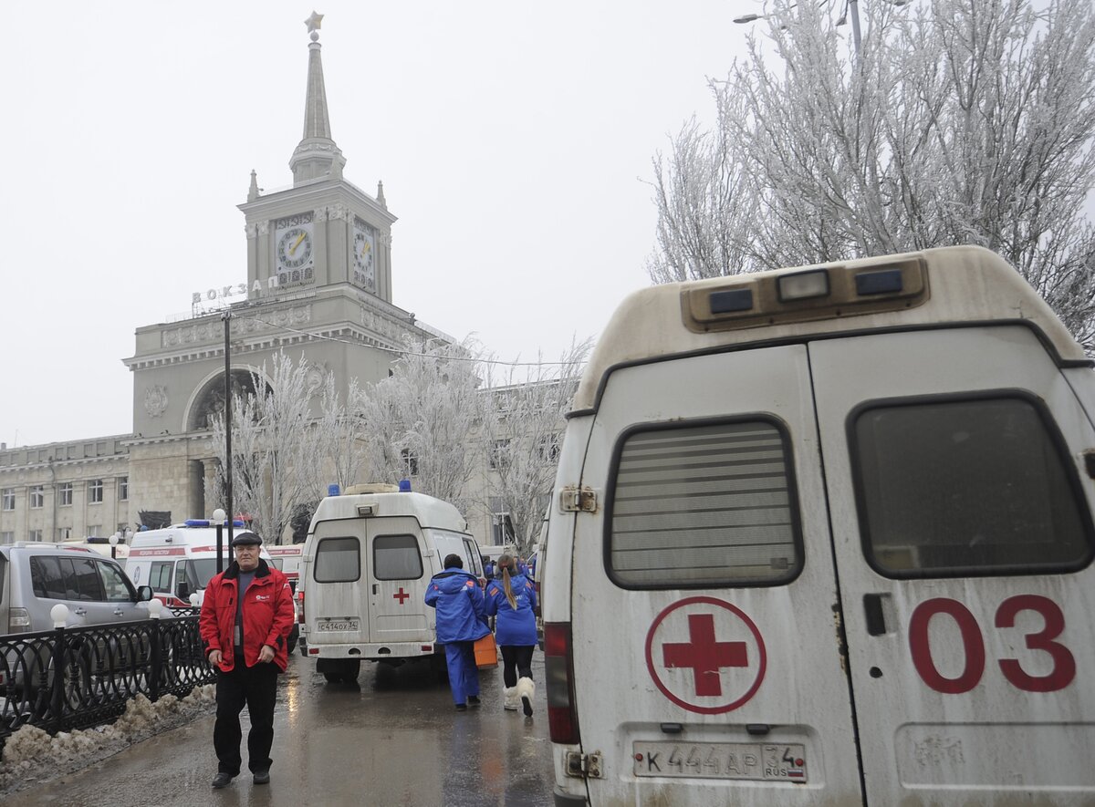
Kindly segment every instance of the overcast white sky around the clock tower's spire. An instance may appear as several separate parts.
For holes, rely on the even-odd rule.
[[[304,0],[306,2],[310,0]],[[346,178],[383,179],[394,303],[557,359],[649,281],[650,159],[726,74],[753,0],[324,0]],[[14,11],[14,9],[9,10]],[[0,47],[9,447],[126,434],[136,328],[246,280],[250,172],[291,184],[311,5],[37,2]]]

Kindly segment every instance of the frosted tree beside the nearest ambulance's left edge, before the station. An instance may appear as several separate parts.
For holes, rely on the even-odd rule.
[[[591,342],[574,342],[558,362],[541,355],[529,367],[486,372],[485,412],[480,436],[492,473],[485,492],[509,515],[522,552],[535,540],[555,482],[558,449]],[[527,371],[527,372],[525,372]]]

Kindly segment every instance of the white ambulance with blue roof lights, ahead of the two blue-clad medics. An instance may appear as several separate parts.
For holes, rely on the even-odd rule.
[[[483,578],[480,548],[452,504],[393,484],[327,496],[304,541],[302,621],[308,657],[328,681],[354,681],[361,659],[443,659],[435,646],[429,578],[446,555]]]

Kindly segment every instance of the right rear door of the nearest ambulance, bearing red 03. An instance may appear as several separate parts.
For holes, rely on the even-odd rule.
[[[1018,326],[809,364],[867,803],[1095,804],[1091,371]]]

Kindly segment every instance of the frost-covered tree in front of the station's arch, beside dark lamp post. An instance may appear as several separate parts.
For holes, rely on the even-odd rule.
[[[270,543],[279,542],[299,505],[314,503],[322,484],[323,463],[332,445],[322,430],[324,419],[313,418],[309,374],[303,359],[293,362],[276,353],[269,372],[264,364],[252,374],[254,393],[232,396],[232,504],[246,512],[252,527]],[[333,382],[324,379],[324,387]],[[326,398],[323,398],[324,404]],[[212,420],[212,443],[226,468],[224,419]],[[224,480],[210,486],[222,501]]]

